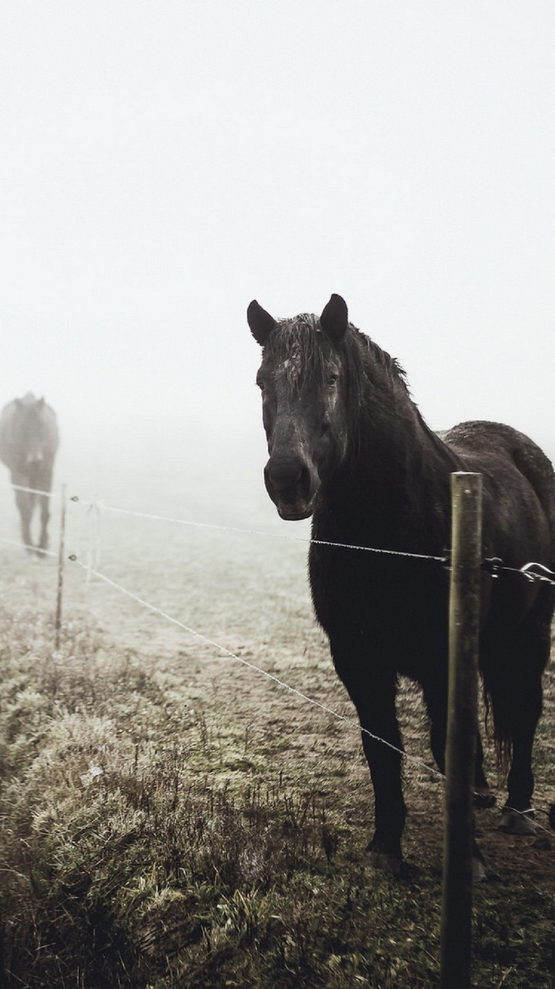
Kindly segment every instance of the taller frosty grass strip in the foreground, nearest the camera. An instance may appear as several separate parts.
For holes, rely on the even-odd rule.
[[[401,880],[368,866],[367,798],[331,762],[331,729],[318,764],[271,728],[253,743],[216,686],[200,696],[87,624],[66,624],[58,653],[51,640],[44,617],[2,613],[2,984],[437,983],[437,839],[422,827],[413,841],[429,854],[416,866],[410,848]],[[409,738],[425,731],[415,697]],[[480,989],[552,985],[553,853],[526,849],[542,882],[499,859],[476,891]]]

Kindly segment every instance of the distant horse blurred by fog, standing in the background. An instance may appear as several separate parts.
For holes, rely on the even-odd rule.
[[[12,484],[17,486],[16,502],[21,514],[23,542],[29,552],[33,552],[33,511],[37,501],[41,504],[41,535],[36,548],[39,556],[48,546],[47,493],[52,486],[57,445],[55,413],[44,399],[29,394],[4,406],[0,415],[0,460],[10,469]],[[33,491],[20,491],[21,488]]]

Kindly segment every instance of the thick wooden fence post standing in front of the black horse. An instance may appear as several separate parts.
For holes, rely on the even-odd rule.
[[[482,475],[451,475],[449,689],[440,989],[470,989]]]

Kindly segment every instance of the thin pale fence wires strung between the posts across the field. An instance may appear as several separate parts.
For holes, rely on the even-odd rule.
[[[38,492],[35,489],[24,488],[23,486],[18,486],[18,485],[10,485],[9,487],[11,487],[14,491],[45,495],[48,498],[53,498],[53,499],[61,498],[61,495],[56,492],[42,492],[42,491]],[[63,501],[65,503],[64,498]],[[400,749],[397,746],[393,745],[392,743],[388,742],[386,739],[374,735],[368,729],[362,727],[355,718],[351,718],[341,714],[339,711],[336,711],[333,708],[322,703],[321,701],[316,700],[314,697],[309,696],[303,691],[292,686],[290,683],[287,683],[285,680],[281,679],[280,677],[269,673],[269,671],[264,670],[262,667],[259,667],[256,664],[250,663],[249,661],[245,660],[244,657],[239,656],[236,652],[231,651],[226,646],[222,645],[220,642],[210,638],[209,636],[200,632],[198,629],[193,628],[191,625],[174,617],[173,615],[169,614],[168,611],[158,607],[152,602],[147,601],[144,597],[130,590],[128,587],[124,586],[124,584],[115,581],[107,574],[102,573],[100,570],[98,570],[98,562],[100,558],[101,517],[104,512],[112,513],[114,515],[119,515],[119,516],[129,516],[130,518],[137,518],[144,521],[166,522],[172,525],[188,527],[191,529],[213,530],[215,532],[230,533],[230,534],[233,533],[242,536],[256,537],[261,539],[285,540],[287,542],[292,542],[292,543],[302,543],[307,546],[310,546],[311,544],[315,544],[315,545],[326,546],[339,550],[364,552],[364,553],[371,553],[382,556],[394,556],[405,559],[415,559],[418,561],[428,562],[430,564],[436,564],[445,568],[448,568],[450,564],[450,557],[448,551],[445,551],[445,553],[441,556],[432,555],[432,554],[419,554],[419,553],[411,553],[407,551],[394,550],[388,548],[370,547],[370,546],[362,546],[362,545],[349,544],[349,543],[337,543],[337,542],[330,542],[325,540],[317,540],[310,537],[294,536],[294,535],[289,535],[286,533],[278,533],[278,532],[268,532],[264,530],[249,529],[240,526],[219,525],[211,522],[199,522],[191,519],[179,518],[173,515],[163,515],[152,512],[138,511],[131,508],[123,508],[121,506],[110,504],[109,502],[107,502],[102,498],[83,498],[77,494],[70,495],[69,498],[67,499],[67,503],[70,505],[80,505],[81,507],[86,508],[87,510],[86,534],[84,538],[81,537],[82,542],[84,542],[85,545],[84,553],[81,554],[82,556],[84,556],[84,560],[80,558],[79,554],[74,552],[69,553],[66,558],[68,561],[76,565],[80,570],[82,570],[86,574],[87,582],[90,582],[90,580],[93,577],[96,578],[102,583],[110,586],[112,589],[118,591],[119,593],[124,594],[131,600],[135,601],[140,607],[145,608],[146,610],[157,615],[159,618],[163,619],[164,621],[182,629],[187,634],[193,636],[199,641],[202,641],[205,645],[211,646],[212,648],[216,649],[220,654],[227,656],[231,660],[241,664],[243,667],[247,668],[252,673],[266,677],[268,680],[272,681],[280,688],[287,690],[291,694],[295,695],[299,700],[302,700],[303,702],[313,705],[314,707],[320,709],[322,712],[329,715],[330,717],[342,722],[349,728],[354,728],[357,730],[357,732],[360,732],[363,735],[370,737],[373,741],[378,742],[381,745],[384,745],[385,747],[397,753],[406,763],[412,764],[416,766],[418,769],[424,770],[426,773],[429,773],[434,777],[438,777],[441,780],[445,779],[444,773],[442,773],[436,766],[427,764],[423,760],[418,759],[416,756],[413,756],[410,753],[407,753],[405,750]],[[0,542],[13,547],[23,548],[25,550],[37,552],[35,547],[26,546],[20,540],[9,539],[0,536]],[[58,553],[52,552],[51,550],[41,550],[40,554],[53,559],[57,559],[58,557]],[[555,572],[551,571],[545,565],[533,561],[527,562],[523,564],[521,567],[517,568],[517,567],[506,566],[503,560],[499,558],[486,558],[483,561],[483,570],[486,573],[488,573],[493,579],[498,579],[502,573],[507,572],[510,574],[519,575],[525,581],[555,585]],[[479,797],[479,794],[476,795]],[[514,808],[510,808],[510,807],[507,807],[506,809],[515,810]],[[525,811],[516,810],[515,812],[518,814],[525,815],[533,812],[534,810],[538,810],[538,808],[530,807]],[[545,813],[544,811],[541,810],[539,812]],[[546,828],[543,828],[543,826],[540,825],[539,822],[536,822],[536,827],[539,827],[541,830],[544,831],[548,830]]]

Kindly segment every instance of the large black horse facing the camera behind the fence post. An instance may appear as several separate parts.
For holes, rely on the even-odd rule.
[[[441,557],[450,543],[450,475],[483,475],[483,551],[519,568],[555,560],[555,476],[542,451],[496,422],[441,438],[413,403],[399,364],[348,322],[332,295],[320,319],[276,321],[256,302],[269,460],[265,484],[285,519],[312,514],[313,539]],[[439,563],[313,543],[310,579],[337,674],[356,706],[375,795],[369,851],[398,872],[406,805],[398,674],[421,684],[431,749],[444,768],[448,572]],[[549,659],[553,587],[484,573],[480,668],[498,752],[510,760],[501,827],[533,831],[531,751]],[[372,733],[371,735],[368,733]],[[475,789],[488,794],[477,742]],[[493,802],[493,801],[492,801]]]

